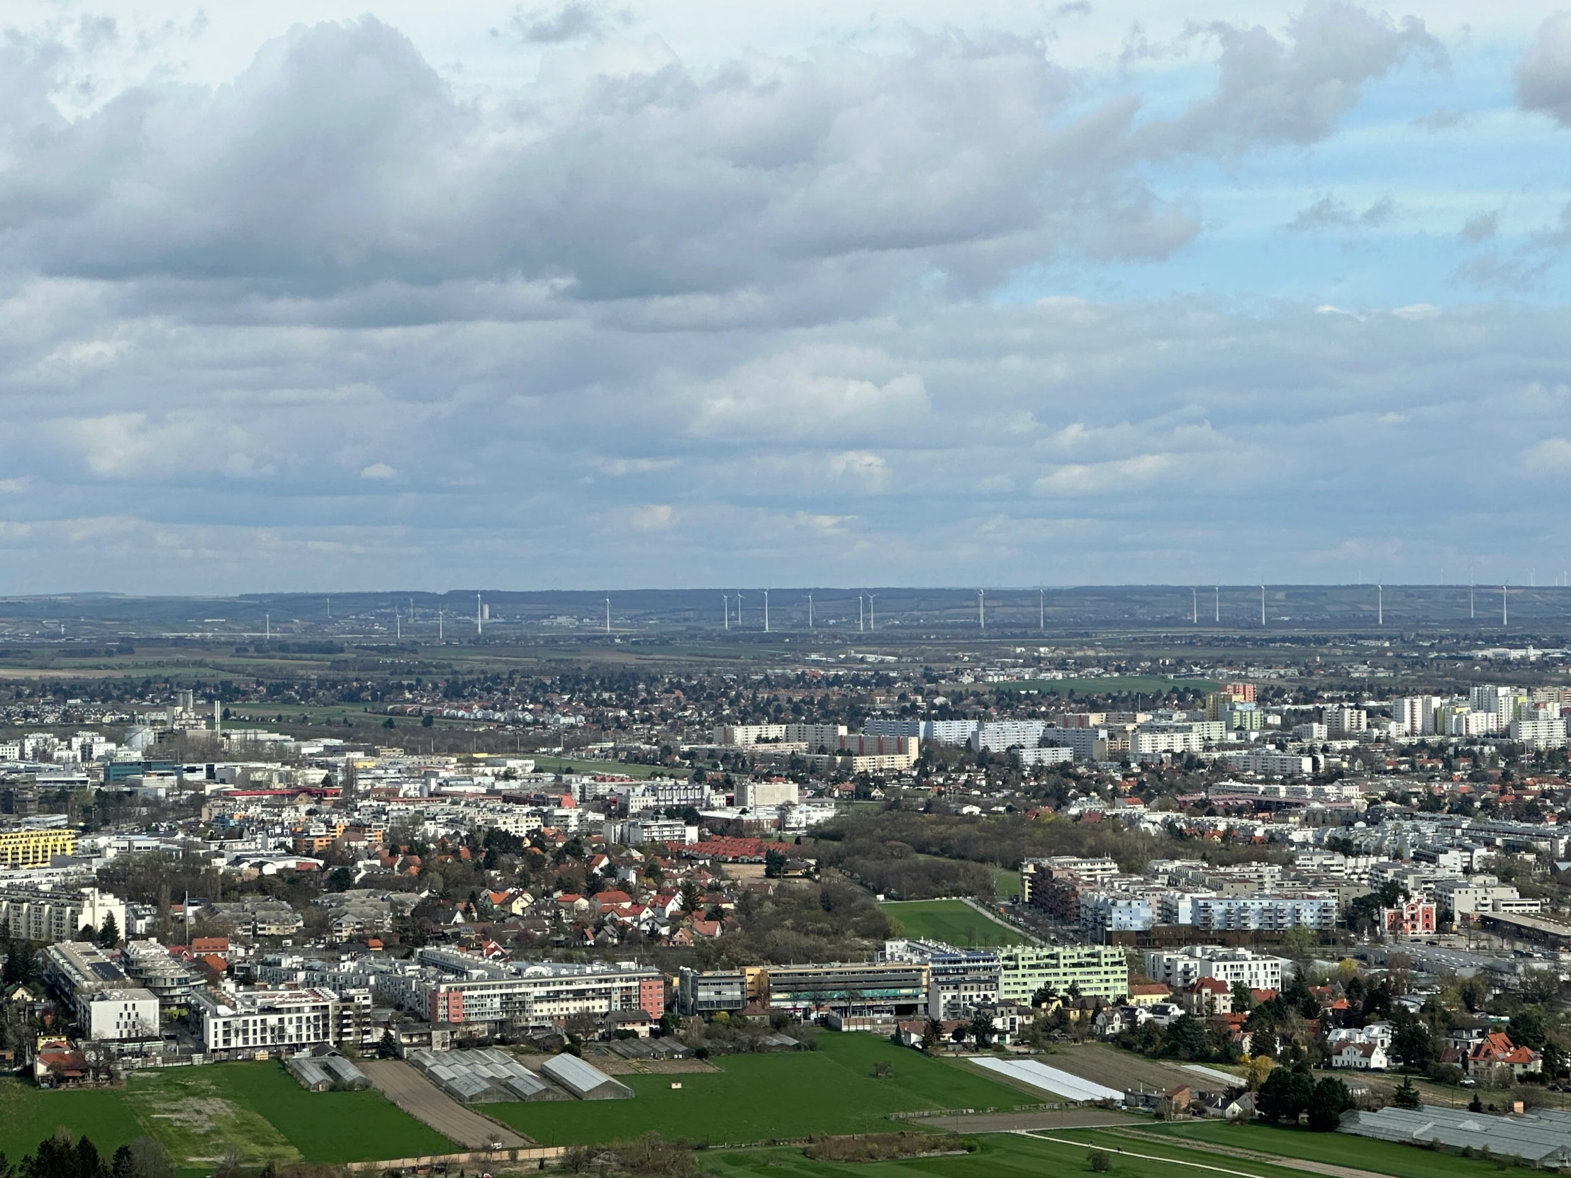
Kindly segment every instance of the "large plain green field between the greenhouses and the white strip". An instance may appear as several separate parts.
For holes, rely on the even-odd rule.
[[[910,1109],[1012,1109],[1040,1093],[977,1076],[873,1035],[818,1037],[818,1051],[726,1055],[713,1073],[622,1076],[630,1101],[487,1104],[485,1112],[544,1145],[636,1137],[762,1142],[809,1134],[889,1132],[888,1114]],[[875,1079],[888,1060],[892,1076]],[[682,1084],[672,1088],[672,1081]],[[919,1121],[917,1121],[919,1125]]]

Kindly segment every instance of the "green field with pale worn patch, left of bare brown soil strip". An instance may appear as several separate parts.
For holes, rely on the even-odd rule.
[[[182,1170],[211,1173],[226,1151],[248,1165],[451,1153],[446,1137],[375,1092],[306,1092],[281,1063],[214,1063],[132,1073],[124,1088],[39,1092],[0,1081],[0,1150],[20,1161],[68,1128],[101,1154],[156,1137]]]

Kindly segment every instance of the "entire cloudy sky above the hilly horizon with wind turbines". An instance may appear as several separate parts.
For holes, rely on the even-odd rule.
[[[0,20],[0,594],[1571,569],[1554,3]]]

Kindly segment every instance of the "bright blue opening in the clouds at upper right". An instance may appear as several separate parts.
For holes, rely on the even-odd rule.
[[[1516,52],[1470,46],[1444,74],[1409,64],[1370,85],[1310,148],[1148,168],[1158,196],[1200,212],[1189,245],[1148,262],[1023,267],[993,298],[1203,292],[1365,308],[1565,298],[1563,250],[1541,234],[1571,199],[1568,132],[1514,107]],[[1163,85],[1142,119],[1181,112],[1203,94],[1203,74],[1186,66],[1145,80]]]

